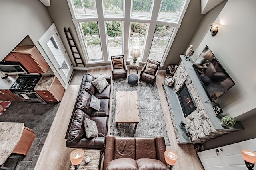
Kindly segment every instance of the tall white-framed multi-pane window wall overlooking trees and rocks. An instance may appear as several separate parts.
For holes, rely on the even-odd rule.
[[[68,0],[87,64],[138,46],[140,62],[164,63],[190,0]],[[125,2],[125,3],[124,3]]]

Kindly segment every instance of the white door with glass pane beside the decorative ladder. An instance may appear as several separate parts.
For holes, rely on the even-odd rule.
[[[54,23],[38,42],[53,65],[52,71],[55,74],[58,73],[66,86],[72,76],[73,67],[69,57],[66,55],[64,45],[58,36]]]

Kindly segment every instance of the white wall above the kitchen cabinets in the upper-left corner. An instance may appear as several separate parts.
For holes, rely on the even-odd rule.
[[[27,35],[40,50],[37,41],[52,24],[39,0],[0,0],[0,16],[0,61]]]

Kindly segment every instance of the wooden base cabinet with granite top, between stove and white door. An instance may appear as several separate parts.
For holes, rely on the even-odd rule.
[[[42,76],[34,91],[46,102],[60,102],[65,89],[56,76]]]

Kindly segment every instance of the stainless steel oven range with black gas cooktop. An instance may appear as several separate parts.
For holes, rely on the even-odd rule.
[[[41,76],[19,75],[10,91],[21,98],[24,102],[47,104],[35,91],[34,87]]]

